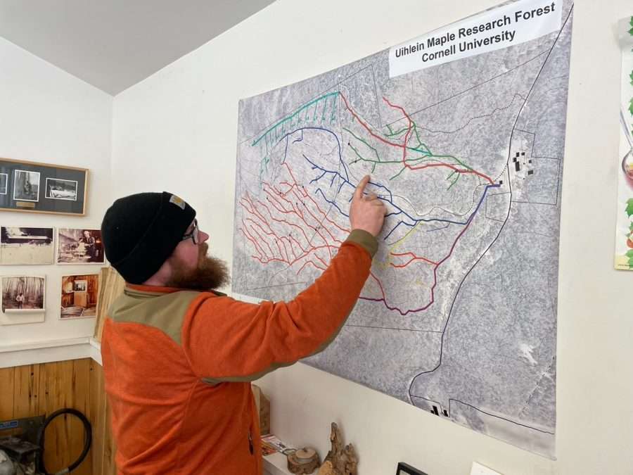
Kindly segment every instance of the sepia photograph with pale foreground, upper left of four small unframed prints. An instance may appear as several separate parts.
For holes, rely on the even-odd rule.
[[[52,227],[0,227],[0,265],[53,263]]]

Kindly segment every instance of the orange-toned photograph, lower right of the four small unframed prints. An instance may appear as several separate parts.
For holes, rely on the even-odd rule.
[[[95,317],[98,294],[98,274],[62,277],[60,319]]]

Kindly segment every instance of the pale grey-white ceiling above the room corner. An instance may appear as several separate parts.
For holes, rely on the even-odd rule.
[[[274,0],[0,0],[0,37],[116,95]]]

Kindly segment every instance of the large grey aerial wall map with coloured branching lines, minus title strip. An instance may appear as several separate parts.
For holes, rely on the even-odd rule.
[[[288,300],[388,207],[338,338],[305,360],[554,456],[561,174],[573,3],[560,29],[390,78],[389,51],[240,102],[233,291]]]

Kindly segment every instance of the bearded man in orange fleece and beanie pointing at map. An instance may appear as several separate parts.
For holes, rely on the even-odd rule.
[[[119,474],[260,475],[250,381],[323,350],[369,277],[385,205],[358,184],[352,232],[314,284],[258,305],[214,291],[224,262],[207,256],[196,211],[167,192],[120,198],[101,224],[126,281],[101,355]]]

